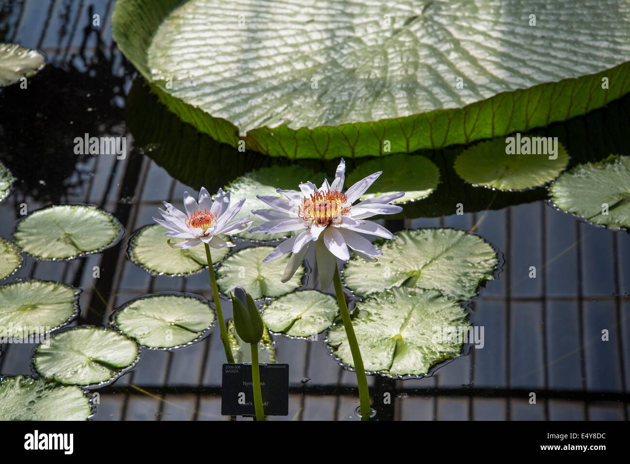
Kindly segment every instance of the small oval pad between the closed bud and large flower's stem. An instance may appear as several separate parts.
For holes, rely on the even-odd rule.
[[[263,308],[263,322],[272,332],[309,337],[330,327],[339,314],[337,300],[316,290],[281,296]]]

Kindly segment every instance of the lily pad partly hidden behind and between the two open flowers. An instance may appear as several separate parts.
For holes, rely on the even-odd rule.
[[[270,209],[261,202],[256,195],[272,195],[284,196],[276,192],[278,188],[282,190],[297,190],[302,182],[316,182],[318,185],[324,180],[324,173],[315,173],[314,171],[303,168],[299,165],[292,166],[272,166],[270,168],[262,168],[251,171],[234,182],[226,186],[225,190],[231,192],[233,200],[246,199],[241,212],[236,215],[235,219],[241,219],[250,216],[254,219],[252,227],[260,226],[264,221],[251,214],[252,209]],[[249,233],[245,231],[239,233],[239,237],[248,238],[250,240],[275,240],[290,235],[289,233],[266,234],[263,232]]]

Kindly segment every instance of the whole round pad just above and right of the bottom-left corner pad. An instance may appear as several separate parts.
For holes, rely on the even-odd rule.
[[[37,372],[71,385],[105,384],[138,360],[138,345],[101,327],[77,327],[56,333],[49,346],[40,345],[33,355]]]

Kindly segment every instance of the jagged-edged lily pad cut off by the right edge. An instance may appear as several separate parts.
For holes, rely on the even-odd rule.
[[[549,187],[564,211],[611,229],[630,228],[630,156],[610,156],[564,173]]]

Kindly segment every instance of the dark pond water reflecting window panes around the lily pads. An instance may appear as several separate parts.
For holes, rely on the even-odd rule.
[[[179,124],[160,107],[112,42],[113,1],[0,2],[0,42],[37,47],[48,66],[27,90],[0,91],[0,160],[19,179],[0,204],[0,236],[11,238],[20,205],[29,211],[62,202],[96,204],[125,227],[117,246],[71,262],[27,258],[15,279],[67,282],[83,289],[75,324],[103,325],[114,308],[154,291],[185,291],[211,299],[205,273],[151,277],[127,260],[132,233],[150,224],[162,200],[181,204],[184,190],[210,191],[245,171],[269,165],[241,156]],[[101,15],[93,28],[91,16]],[[129,95],[129,96],[128,96]],[[160,124],[169,122],[164,134]],[[571,155],[571,164],[630,154],[630,98],[546,129]],[[127,157],[79,156],[74,137],[125,136]],[[166,137],[166,139],[164,138]],[[169,164],[164,146],[192,140],[206,153],[187,175]],[[443,183],[391,229],[470,230],[503,254],[503,269],[469,304],[484,327],[483,349],[471,348],[419,380],[370,377],[382,420],[534,419],[627,420],[630,412],[630,235],[583,223],[544,200],[539,188],[496,194],[467,187],[450,170],[461,148],[424,153]],[[156,163],[157,161],[157,163]],[[280,160],[282,162],[282,160]],[[169,168],[169,171],[161,167]],[[331,164],[320,166],[331,173]],[[178,178],[173,177],[176,175]],[[455,204],[466,212],[456,215]],[[101,268],[93,279],[93,266]],[[536,279],[529,278],[536,266]],[[226,304],[227,306],[227,304]],[[230,315],[229,306],[227,314]],[[610,340],[602,342],[602,330]],[[290,364],[289,415],[273,419],[356,420],[355,376],[338,367],[320,341],[275,337],[278,362]],[[0,374],[31,374],[31,345],[4,345]],[[135,369],[100,390],[95,420],[226,420],[221,416],[223,352],[214,330],[202,342],[173,352],[144,352]],[[536,405],[529,393],[536,392]],[[382,402],[377,401],[377,404]]]

